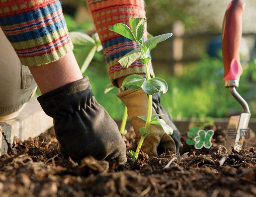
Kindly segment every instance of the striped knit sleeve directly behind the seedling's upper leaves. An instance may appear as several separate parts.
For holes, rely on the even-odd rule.
[[[124,68],[118,63],[125,54],[138,48],[138,45],[108,29],[116,23],[124,23],[129,26],[129,18],[146,18],[144,0],[86,0],[86,2],[103,46],[111,82],[117,85],[115,79],[119,77],[134,73],[146,73],[145,66],[139,61],[134,62],[128,68]],[[143,40],[146,39],[147,32],[143,36]],[[151,75],[154,76],[151,62],[149,65]]]

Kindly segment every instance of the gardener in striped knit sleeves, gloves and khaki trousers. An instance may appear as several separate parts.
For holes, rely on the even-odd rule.
[[[145,17],[143,0],[87,0],[87,5],[104,49],[111,82],[120,88],[129,74],[146,76],[139,61],[127,69],[118,64],[137,45],[108,30],[115,23],[127,24],[129,17]],[[82,76],[59,0],[2,0],[0,26],[0,120],[17,116],[37,83],[42,92],[38,101],[54,119],[62,155],[74,160],[92,155],[99,160],[116,161],[122,168],[126,163],[125,143],[115,122],[95,100],[88,77]],[[141,89],[125,90],[117,96],[127,106],[140,137],[138,129],[145,122],[137,116],[147,115],[146,93]],[[174,131],[170,136],[161,126],[151,125],[149,131],[153,132],[146,137],[142,149],[150,156],[178,151],[180,134],[160,105],[160,94],[153,96],[153,107],[153,113],[165,114],[162,118]]]

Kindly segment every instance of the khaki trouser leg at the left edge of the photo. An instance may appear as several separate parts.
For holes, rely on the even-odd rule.
[[[35,92],[28,67],[22,66],[0,29],[0,121],[15,118]]]

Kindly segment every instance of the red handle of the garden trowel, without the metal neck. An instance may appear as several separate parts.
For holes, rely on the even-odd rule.
[[[242,14],[244,8],[245,3],[242,0],[232,0],[225,13],[222,27],[224,80],[239,80],[243,72],[239,50],[242,39]]]

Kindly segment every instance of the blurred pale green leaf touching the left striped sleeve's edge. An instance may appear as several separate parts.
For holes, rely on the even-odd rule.
[[[75,45],[75,48],[76,48],[76,45],[93,47],[96,44],[95,41],[90,36],[78,31],[70,32],[70,38],[72,40],[72,43]]]

